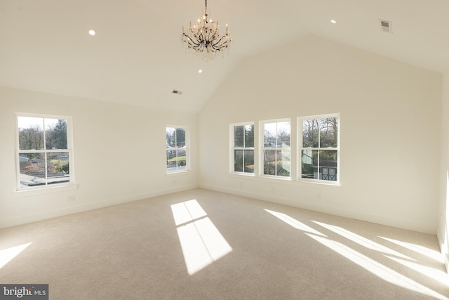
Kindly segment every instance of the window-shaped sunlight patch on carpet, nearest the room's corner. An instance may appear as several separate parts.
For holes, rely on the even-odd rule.
[[[189,275],[232,252],[196,200],[173,204],[171,209]]]

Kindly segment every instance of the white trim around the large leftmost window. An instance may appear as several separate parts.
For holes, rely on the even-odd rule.
[[[72,117],[63,115],[46,115],[46,114],[34,114],[29,112],[15,112],[15,194],[17,195],[31,195],[47,193],[49,191],[60,190],[68,188],[70,190],[76,189],[75,184],[75,170],[74,170],[74,150],[73,150],[73,131],[72,131]],[[69,183],[53,183],[51,185],[37,185],[36,187],[21,188],[20,187],[20,162],[19,152],[34,152],[29,150],[20,150],[19,147],[19,124],[18,117],[36,117],[36,118],[48,118],[48,119],[66,119],[67,120],[67,149],[63,150],[51,150],[50,152],[69,152]],[[48,150],[41,150],[37,152],[46,153]]]

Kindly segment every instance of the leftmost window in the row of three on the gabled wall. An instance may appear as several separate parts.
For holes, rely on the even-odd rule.
[[[231,136],[232,172],[254,174],[254,124],[232,124]]]

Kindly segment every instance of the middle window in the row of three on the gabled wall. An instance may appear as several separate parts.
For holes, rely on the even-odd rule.
[[[290,177],[290,119],[261,122],[263,174]]]

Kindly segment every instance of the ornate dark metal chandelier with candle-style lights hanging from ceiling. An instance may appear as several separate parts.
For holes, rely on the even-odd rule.
[[[208,0],[206,0],[203,20],[198,19],[193,26],[190,22],[187,30],[184,30],[184,26],[182,26],[181,41],[186,50],[194,50],[207,62],[215,58],[218,53],[224,55],[225,49],[229,51],[232,38],[227,25],[225,34],[222,35],[218,22],[208,19]]]

